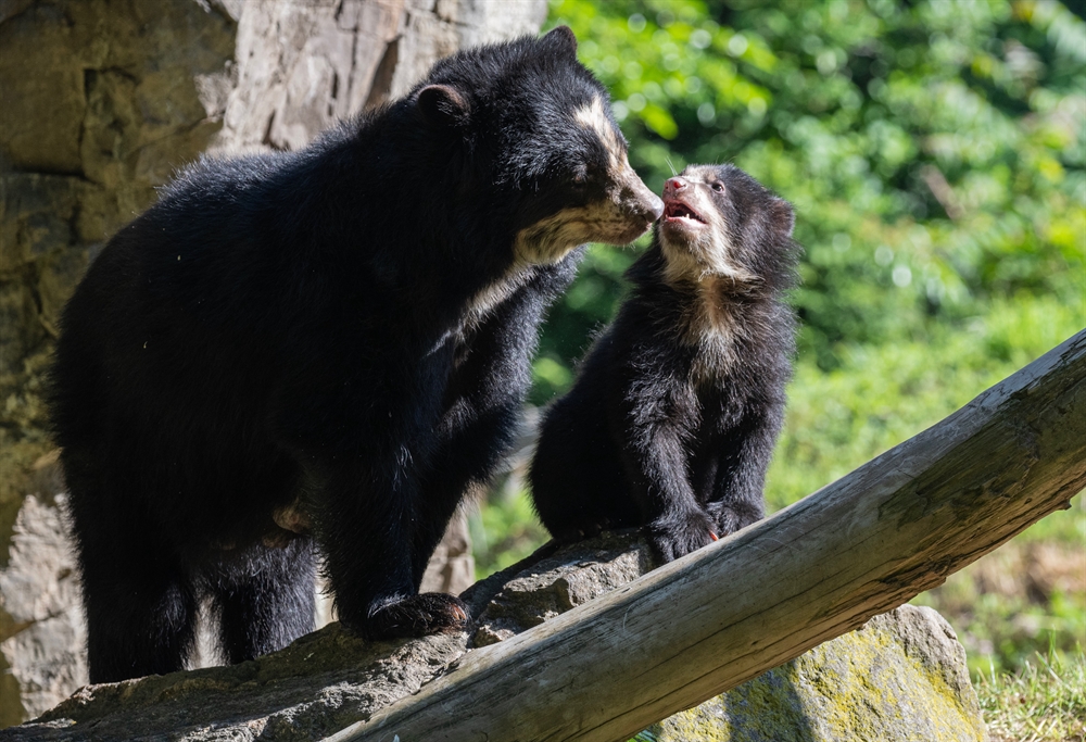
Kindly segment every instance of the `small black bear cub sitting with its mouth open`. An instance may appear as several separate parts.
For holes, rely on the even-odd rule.
[[[647,526],[669,562],[762,516],[795,319],[786,201],[731,165],[664,187],[632,295],[546,413],[531,467],[556,538]]]

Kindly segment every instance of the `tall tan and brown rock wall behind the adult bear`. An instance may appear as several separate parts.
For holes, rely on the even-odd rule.
[[[42,382],[104,241],[201,152],[300,148],[545,15],[545,0],[0,0],[0,727],[87,679]],[[430,589],[471,574],[453,526]]]

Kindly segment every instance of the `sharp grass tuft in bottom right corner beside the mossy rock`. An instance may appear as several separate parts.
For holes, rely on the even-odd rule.
[[[1018,672],[975,682],[992,742],[1086,740],[1086,654],[1036,654]]]

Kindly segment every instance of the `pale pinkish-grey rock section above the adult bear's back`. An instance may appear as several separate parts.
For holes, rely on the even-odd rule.
[[[298,149],[457,49],[534,34],[545,0],[223,0],[238,21],[216,149]]]

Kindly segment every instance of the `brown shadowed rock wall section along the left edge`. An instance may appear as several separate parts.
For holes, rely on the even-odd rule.
[[[223,74],[236,34],[189,0],[0,3],[0,726],[86,682],[42,403],[60,310],[215,137],[195,80]]]

